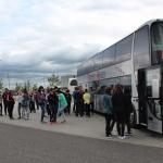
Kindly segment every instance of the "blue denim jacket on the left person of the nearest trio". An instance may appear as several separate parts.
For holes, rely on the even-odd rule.
[[[113,114],[113,105],[112,105],[111,96],[109,95],[103,96],[103,106],[104,106],[104,113]]]

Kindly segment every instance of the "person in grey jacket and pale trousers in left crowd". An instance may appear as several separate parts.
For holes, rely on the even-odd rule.
[[[21,108],[22,108],[22,117],[24,120],[29,120],[29,95],[26,89],[23,90]]]

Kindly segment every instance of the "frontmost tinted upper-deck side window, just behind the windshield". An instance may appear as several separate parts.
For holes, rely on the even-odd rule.
[[[145,26],[135,34],[134,64],[136,70],[147,67],[150,64],[149,45],[149,27]]]

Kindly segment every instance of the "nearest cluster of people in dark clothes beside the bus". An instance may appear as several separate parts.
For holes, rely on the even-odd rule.
[[[134,111],[130,91],[116,85],[113,88],[106,87],[103,96],[103,108],[105,114],[105,136],[112,137],[112,130],[116,123],[116,129],[121,139],[125,138],[125,125],[127,126],[126,135],[130,135],[130,113]]]

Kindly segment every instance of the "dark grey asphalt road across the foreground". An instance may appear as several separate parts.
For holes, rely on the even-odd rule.
[[[0,124],[0,163],[162,163],[163,149]]]

